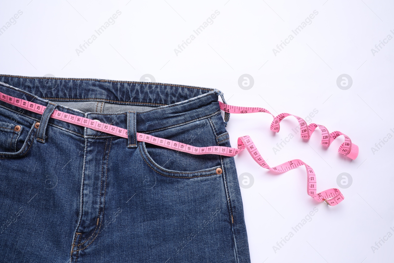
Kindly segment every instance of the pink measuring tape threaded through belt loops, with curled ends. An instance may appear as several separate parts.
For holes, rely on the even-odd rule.
[[[11,97],[9,95],[6,95],[4,93],[0,92],[0,99],[8,104],[23,108],[25,110],[30,110],[32,112],[38,113],[38,114],[43,114],[46,106],[32,103],[29,101],[25,101],[19,98]],[[228,104],[221,103],[219,101],[219,106],[220,109],[228,112],[228,113],[236,113],[236,114],[245,114],[245,113],[254,113],[254,112],[265,112],[268,114],[271,114],[268,110],[264,108],[252,108],[252,107],[237,107],[237,106],[230,106]],[[271,114],[272,115],[272,114]],[[272,115],[273,116],[273,115]],[[329,133],[327,128],[325,128],[323,125],[318,125],[311,123],[310,125],[307,125],[307,122],[303,120],[302,118],[299,118],[295,115],[288,114],[288,113],[282,113],[279,114],[278,116],[273,116],[273,121],[271,123],[271,131],[274,132],[279,132],[279,123],[282,121],[282,119],[286,118],[287,116],[294,116],[297,118],[298,123],[300,125],[300,130],[301,130],[301,138],[309,139],[310,135],[312,132],[319,127],[320,131],[322,132],[322,142],[324,146],[328,147],[330,143],[335,140],[340,135],[344,135],[345,142],[340,145],[338,152],[341,153],[342,155],[345,155],[349,157],[350,159],[356,159],[358,153],[359,153],[359,147],[355,144],[353,144],[348,136],[343,134],[342,132],[335,131]],[[94,129],[97,131],[102,131],[106,132],[109,134],[117,135],[123,138],[128,138],[127,135],[127,130],[116,127],[110,124],[106,123],[101,123],[99,121],[95,121],[93,119],[87,119],[84,117],[76,116],[73,114],[68,114],[65,112],[61,112],[59,110],[54,110],[52,115],[50,116],[51,118],[54,119],[59,119],[61,121],[66,121],[68,123],[80,125],[83,127],[87,127],[90,129]],[[191,154],[216,154],[216,155],[224,155],[224,156],[230,156],[233,157],[240,153],[243,149],[246,149],[253,160],[255,160],[261,167],[266,168],[268,170],[272,170],[273,172],[287,172],[289,170],[292,170],[294,168],[297,168],[298,166],[305,165],[305,168],[307,170],[307,193],[309,196],[314,198],[315,200],[322,202],[325,201],[327,204],[334,206],[340,203],[342,200],[344,200],[344,197],[340,190],[337,188],[331,188],[327,189],[322,192],[317,192],[316,189],[316,175],[313,171],[313,169],[303,162],[302,160],[299,159],[294,159],[290,160],[288,162],[285,162],[283,164],[279,164],[275,167],[270,167],[264,161],[260,153],[258,152],[256,145],[253,143],[252,139],[248,136],[242,136],[238,138],[238,148],[232,148],[232,147],[225,147],[225,146],[207,146],[207,147],[195,147],[192,145],[188,144],[183,144],[181,142],[176,142],[176,141],[171,141],[163,138],[158,138],[155,136],[151,136],[149,134],[144,134],[137,132],[137,140],[139,142],[147,142],[149,144],[155,144],[158,146],[162,146],[165,148],[169,149],[174,149],[177,151],[183,151],[185,153],[191,153]]]

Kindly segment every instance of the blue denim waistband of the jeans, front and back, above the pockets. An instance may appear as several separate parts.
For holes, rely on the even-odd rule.
[[[0,75],[0,82],[0,92],[7,95],[44,106],[48,106],[48,103],[58,104],[57,110],[123,128],[127,127],[127,111],[130,111],[124,109],[134,106],[137,132],[158,131],[218,114],[218,95],[222,95],[219,90],[211,88],[104,79]],[[93,107],[95,112],[62,105],[76,102],[97,102],[97,106]],[[102,111],[104,104],[110,105],[112,110]],[[3,101],[0,101],[0,107],[41,119],[40,114]],[[48,123],[80,136],[86,135],[84,127],[78,125],[53,118]],[[99,136],[100,133],[92,130],[87,135]]]

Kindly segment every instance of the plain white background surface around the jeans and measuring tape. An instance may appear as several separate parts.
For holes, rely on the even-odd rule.
[[[342,137],[323,148],[319,131],[309,141],[296,134],[275,154],[273,147],[294,133],[295,118],[286,118],[273,134],[268,114],[231,115],[233,146],[248,134],[271,166],[307,162],[318,191],[339,188],[342,172],[353,179],[350,187],[339,188],[345,200],[329,207],[307,195],[303,167],[272,175],[246,152],[237,156],[238,175],[254,178],[250,188],[241,188],[252,263],[393,262],[394,237],[375,253],[371,248],[388,232],[394,235],[394,139],[375,147],[394,135],[394,40],[371,51],[388,34],[394,37],[393,7],[372,0],[8,1],[0,8],[0,26],[18,10],[23,14],[0,35],[0,73],[115,80],[151,74],[156,82],[217,88],[229,104],[260,106],[275,115],[305,118],[316,109],[314,123],[342,131],[359,145],[356,160],[337,153]],[[95,30],[117,10],[115,23],[97,36]],[[220,14],[213,24],[196,36],[193,30],[215,10]],[[312,23],[294,35],[314,10]],[[78,56],[76,48],[93,34],[97,39]],[[177,56],[174,48],[191,34],[196,38]],[[275,56],[273,48],[290,34],[294,39]],[[249,90],[238,86],[242,74],[253,76]],[[341,74],[353,80],[348,90],[336,84]],[[314,207],[318,212],[295,233],[292,227]],[[294,237],[275,253],[273,246],[290,231]]]

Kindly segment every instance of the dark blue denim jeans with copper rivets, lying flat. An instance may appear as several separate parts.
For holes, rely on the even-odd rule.
[[[0,82],[2,93],[52,105],[39,115],[0,101],[0,262],[250,262],[234,158],[134,137],[230,147],[219,90],[9,75]],[[48,118],[54,108],[129,129],[129,138]]]

